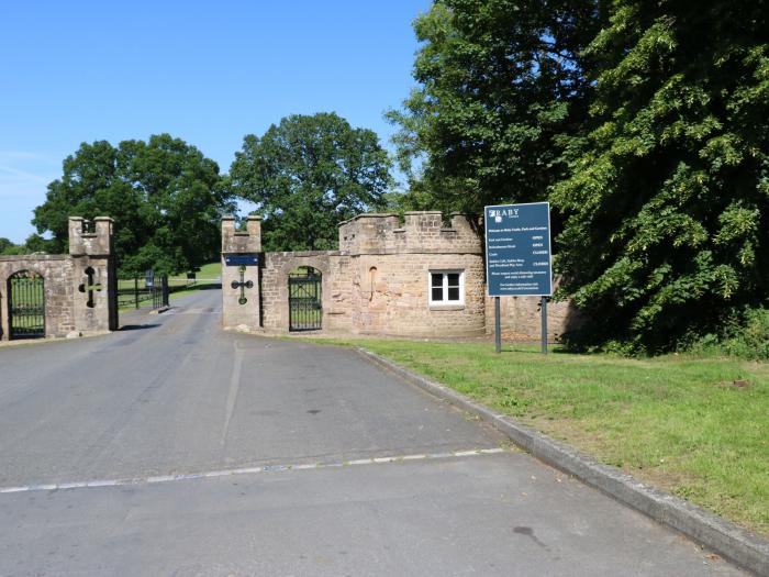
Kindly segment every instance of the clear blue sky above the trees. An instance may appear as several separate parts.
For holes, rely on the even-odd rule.
[[[382,143],[413,86],[411,23],[430,0],[0,5],[0,236],[81,142],[168,132],[226,171],[243,136],[336,111]]]

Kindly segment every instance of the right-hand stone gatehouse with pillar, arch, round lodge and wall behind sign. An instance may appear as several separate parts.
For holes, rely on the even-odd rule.
[[[246,231],[222,223],[223,325],[252,332],[287,332],[292,325],[291,273],[312,271],[317,324],[330,333],[410,337],[468,337],[493,331],[486,296],[483,241],[477,222],[438,211],[359,214],[338,228],[338,251],[261,254],[260,219]],[[259,255],[238,266],[237,255]],[[232,266],[227,266],[231,262]],[[244,300],[245,302],[238,302]],[[539,334],[538,298],[502,299],[502,328],[515,337]],[[548,308],[551,340],[570,317],[567,303]]]

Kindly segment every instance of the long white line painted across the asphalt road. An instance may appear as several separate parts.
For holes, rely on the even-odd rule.
[[[355,467],[359,465],[382,465],[409,461],[437,461],[452,457],[476,457],[505,453],[501,447],[476,448],[469,451],[450,451],[443,453],[420,453],[417,455],[393,455],[389,457],[358,458],[355,461],[331,461],[319,463],[297,463],[285,465],[264,465],[259,467],[241,467],[236,469],[219,469],[204,473],[187,473],[180,475],[157,475],[153,477],[135,477],[131,479],[101,479],[74,482],[51,482],[37,485],[21,485],[19,487],[0,487],[0,493],[55,491],[66,489],[93,489],[99,487],[125,487],[129,485],[155,485],[193,479],[211,479],[215,477],[232,477],[235,475],[252,475],[257,473],[280,473],[286,470],[328,469],[336,467]]]

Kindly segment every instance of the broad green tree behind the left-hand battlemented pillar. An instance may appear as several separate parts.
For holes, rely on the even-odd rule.
[[[54,251],[67,243],[67,218],[109,215],[115,221],[120,268],[172,273],[215,258],[219,222],[232,211],[219,167],[200,151],[168,134],[148,142],[83,143],[64,160],[35,209],[37,231],[51,231]]]

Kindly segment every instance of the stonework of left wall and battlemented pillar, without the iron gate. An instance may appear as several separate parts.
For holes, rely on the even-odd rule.
[[[43,277],[45,336],[97,334],[118,329],[112,220],[96,219],[90,232],[86,224],[83,219],[69,219],[68,255],[0,256],[0,339],[10,336],[8,279],[22,270]]]

